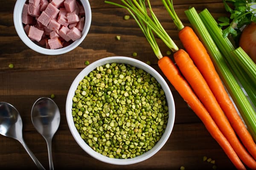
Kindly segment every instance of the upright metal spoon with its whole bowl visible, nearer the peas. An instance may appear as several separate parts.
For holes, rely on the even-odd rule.
[[[32,123],[47,142],[50,170],[53,170],[52,137],[58,130],[60,117],[58,106],[52,99],[47,97],[39,98],[32,107]]]

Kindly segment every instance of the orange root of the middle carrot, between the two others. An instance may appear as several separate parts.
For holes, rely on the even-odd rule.
[[[189,82],[198,98],[201,99],[201,102],[204,104],[205,108],[212,116],[212,119],[216,122],[221,132],[230,142],[239,158],[249,168],[256,169],[256,161],[252,158],[252,156],[250,156],[247,150],[245,150],[244,146],[237,138],[236,133],[230,125],[230,122],[227,120],[204,77],[201,75],[200,71],[189,57],[189,54],[184,50],[179,50],[174,54],[174,59],[180,68],[181,73]]]

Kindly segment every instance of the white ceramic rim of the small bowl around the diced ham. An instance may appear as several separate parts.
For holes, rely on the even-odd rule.
[[[17,31],[17,34],[19,35],[20,39],[32,50],[37,51],[38,53],[41,54],[47,54],[47,55],[58,55],[58,54],[64,54],[67,53],[74,48],[76,48],[86,37],[90,24],[91,24],[91,8],[90,8],[90,3],[88,0],[80,0],[85,11],[85,23],[84,23],[84,29],[82,31],[82,37],[79,38],[78,40],[74,41],[72,44],[68,45],[67,47],[64,48],[59,48],[59,49],[47,49],[43,48],[39,45],[36,45],[32,40],[29,39],[29,37],[26,35],[24,28],[23,28],[23,23],[21,20],[21,15],[22,15],[22,9],[24,6],[24,3],[26,0],[17,0],[15,3],[14,7],[14,12],[13,12],[13,20],[14,20],[14,26]]]

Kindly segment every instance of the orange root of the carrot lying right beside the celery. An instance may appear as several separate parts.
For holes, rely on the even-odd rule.
[[[209,88],[230,121],[233,129],[241,139],[241,142],[253,158],[256,159],[256,144],[231,102],[204,45],[198,39],[193,29],[188,26],[179,31],[179,38],[198,70],[204,76]]]

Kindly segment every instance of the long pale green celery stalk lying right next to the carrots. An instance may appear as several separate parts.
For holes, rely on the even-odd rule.
[[[195,8],[190,8],[185,11],[186,16],[189,19],[192,27],[197,33],[199,39],[207,48],[207,51],[212,59],[212,62],[215,65],[216,71],[220,75],[224,85],[227,88],[230,96],[232,97],[236,107],[238,108],[242,118],[244,119],[245,124],[247,125],[251,135],[253,136],[254,141],[256,141],[256,112],[250,105],[249,100],[242,91],[239,83],[236,81],[236,78],[233,76],[230,71],[225,58],[219,51],[215,42],[212,40],[207,28],[204,26],[201,18],[199,17]]]

